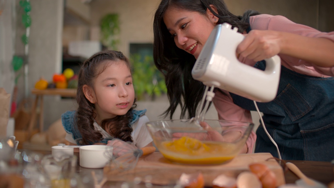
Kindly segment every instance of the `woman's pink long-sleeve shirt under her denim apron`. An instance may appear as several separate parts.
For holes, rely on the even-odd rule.
[[[252,30],[258,29],[283,31],[308,37],[324,37],[334,42],[334,31],[329,33],[320,32],[312,27],[294,23],[284,16],[260,14],[251,16],[249,18],[249,23]],[[310,46],[310,48],[312,48],[312,46]],[[334,67],[324,68],[287,55],[279,54],[279,56],[281,58],[281,64],[284,67],[297,73],[315,77],[334,76]],[[256,62],[242,57],[239,58],[239,61],[250,66],[254,66],[256,64]],[[223,95],[220,92],[216,92],[215,97],[213,98],[213,104],[215,105],[215,108],[218,112],[218,118],[233,121],[252,122],[251,112],[234,104],[231,95],[227,91],[223,92],[226,95]],[[255,140],[256,134],[252,131],[251,135],[246,141],[248,149],[247,153],[252,153]]]

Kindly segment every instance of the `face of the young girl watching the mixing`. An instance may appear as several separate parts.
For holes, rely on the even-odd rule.
[[[126,114],[135,99],[131,72],[125,62],[107,63],[94,81],[95,110],[100,120]]]

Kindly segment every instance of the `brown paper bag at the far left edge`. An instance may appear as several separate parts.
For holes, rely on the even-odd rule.
[[[0,137],[6,137],[9,119],[10,94],[0,88]]]

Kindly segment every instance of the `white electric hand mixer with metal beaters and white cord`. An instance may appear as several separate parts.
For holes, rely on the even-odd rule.
[[[196,118],[200,121],[204,120],[209,102],[214,97],[214,87],[251,99],[281,159],[277,144],[268,133],[256,104],[256,101],[270,102],[275,99],[280,81],[281,59],[277,55],[266,59],[264,71],[239,62],[235,53],[244,36],[237,30],[237,27],[232,29],[232,26],[227,23],[216,25],[195,62],[191,71],[192,77],[206,85],[199,107],[200,113]],[[211,87],[210,91],[208,87]],[[205,107],[202,110],[204,103]]]

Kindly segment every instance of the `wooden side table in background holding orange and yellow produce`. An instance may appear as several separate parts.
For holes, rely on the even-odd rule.
[[[43,96],[44,95],[58,95],[61,97],[75,97],[76,96],[76,89],[35,89],[33,88],[31,90],[31,93],[36,95],[35,101],[31,108],[31,119],[28,126],[28,138],[31,136],[31,132],[36,124],[36,117],[37,117],[37,105],[38,100],[39,102],[39,109],[40,109],[40,115],[39,115],[39,131],[43,132],[43,126],[44,126],[44,119],[43,119]]]

